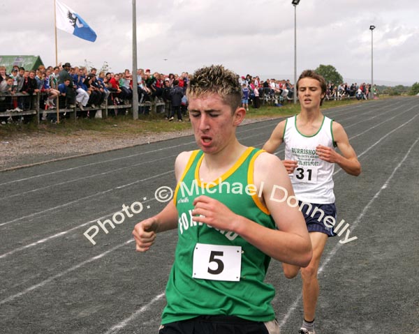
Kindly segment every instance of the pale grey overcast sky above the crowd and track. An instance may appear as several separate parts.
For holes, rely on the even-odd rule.
[[[112,72],[132,68],[132,0],[61,0],[98,38],[91,43],[57,30],[58,60]],[[41,56],[54,65],[54,0],[1,0],[0,54]],[[351,83],[419,82],[419,1],[301,0],[297,6],[297,75],[332,65]],[[239,75],[291,79],[291,0],[139,0],[138,67],[193,72],[222,63]]]

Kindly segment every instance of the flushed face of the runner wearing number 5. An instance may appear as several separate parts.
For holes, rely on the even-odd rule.
[[[189,100],[196,144],[205,153],[217,153],[235,139],[235,128],[242,119],[233,115],[231,107],[217,94],[208,94]]]

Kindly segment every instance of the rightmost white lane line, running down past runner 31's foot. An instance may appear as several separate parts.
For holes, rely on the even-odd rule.
[[[369,210],[369,208],[372,206],[372,203],[378,198],[378,196],[380,196],[381,191],[383,189],[387,188],[388,183],[390,183],[390,181],[392,180],[393,176],[395,176],[395,174],[397,172],[397,169],[399,169],[399,167],[402,166],[403,162],[407,159],[407,157],[411,153],[411,151],[413,149],[413,146],[415,146],[416,143],[418,143],[418,141],[419,141],[419,138],[416,139],[416,141],[410,146],[409,151],[407,151],[406,155],[404,155],[404,158],[402,159],[402,161],[399,162],[399,165],[397,165],[395,167],[395,169],[393,169],[392,174],[388,177],[388,179],[384,182],[384,184],[381,185],[380,190],[378,190],[378,192],[376,192],[376,194],[372,197],[372,199],[369,200],[368,204],[362,209],[362,212],[360,213],[360,215],[358,215],[358,217],[355,219],[355,221],[351,224],[351,229],[352,230],[355,229],[355,227],[360,223],[360,221],[362,220],[362,218],[364,218],[365,213],[367,213],[367,211]],[[326,259],[323,261],[323,264],[318,269],[318,273],[323,272],[325,266],[329,263],[329,261],[332,259],[332,257],[336,254],[337,250],[339,250],[339,248],[341,248],[341,245],[342,245],[341,243],[337,243],[335,245],[335,247],[332,248],[332,250],[328,254],[328,257],[326,257]],[[279,327],[282,327],[282,326],[284,326],[286,324],[286,321],[288,320],[288,318],[294,312],[295,308],[297,308],[297,305],[300,302],[300,299],[301,298],[302,298],[301,294],[299,296],[297,296],[297,298],[295,298],[295,301],[291,305],[291,308],[288,309],[288,312],[286,313],[285,317],[282,319],[281,323],[279,324]]]

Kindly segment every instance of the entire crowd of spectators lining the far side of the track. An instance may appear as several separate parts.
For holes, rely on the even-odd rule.
[[[78,116],[94,117],[98,110],[108,105],[131,105],[133,97],[133,79],[138,83],[139,114],[149,114],[152,103],[163,105],[168,121],[177,116],[178,121],[186,115],[186,87],[189,83],[189,73],[181,75],[163,74],[149,69],[138,69],[136,75],[126,69],[122,73],[89,70],[83,66],[71,66],[64,63],[59,66],[39,66],[37,70],[25,70],[13,66],[11,73],[6,73],[6,67],[0,66],[0,112],[22,112],[34,109],[34,96],[41,93],[40,109],[78,107]],[[294,86],[289,79],[261,80],[258,76],[247,74],[238,76],[242,85],[242,105],[247,110],[249,106],[259,108],[265,101],[274,105],[284,104],[293,100]],[[328,84],[326,99],[357,98],[368,99],[370,84],[346,83]],[[112,109],[117,115],[118,109]],[[112,112],[111,112],[112,114]],[[52,115],[52,114],[50,114]],[[43,114],[43,119],[48,115]],[[54,117],[54,116],[50,116]],[[13,117],[9,117],[13,121]],[[5,121],[5,119],[1,119]]]

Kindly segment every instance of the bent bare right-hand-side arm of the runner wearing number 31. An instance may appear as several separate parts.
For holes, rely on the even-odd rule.
[[[361,173],[361,165],[355,150],[349,144],[348,135],[346,135],[343,126],[333,122],[332,131],[337,147],[342,154],[337,153],[334,149],[330,149],[330,147],[318,145],[316,147],[318,158],[327,162],[337,163],[346,173],[358,176]]]

